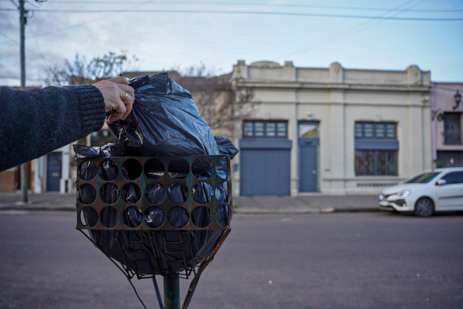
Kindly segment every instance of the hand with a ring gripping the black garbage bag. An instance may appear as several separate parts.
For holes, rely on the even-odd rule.
[[[134,99],[133,88],[129,86],[129,82],[124,77],[118,76],[101,80],[93,85],[103,94],[106,111],[116,111],[108,118],[108,122],[125,120],[132,110]]]

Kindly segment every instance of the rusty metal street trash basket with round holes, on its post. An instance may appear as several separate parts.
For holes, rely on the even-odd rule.
[[[208,177],[198,177],[197,174],[192,171],[192,166],[194,167],[196,163],[204,163],[209,161],[210,163],[210,172]],[[124,169],[125,164],[130,162],[131,166],[138,167],[133,169],[132,173],[129,175]],[[186,170],[189,170],[188,174],[184,169],[183,173],[184,178],[179,179],[178,175],[175,174],[175,171],[170,170],[170,164],[181,162]],[[112,164],[113,166],[117,165],[118,173],[114,175],[112,179],[108,179],[101,173],[101,167],[104,164]],[[92,166],[98,171],[92,173],[91,175],[82,175],[80,173],[81,167]],[[156,166],[157,170],[160,173],[157,173],[156,177],[153,177],[153,174],[148,172],[149,168]],[[174,165],[174,164],[173,164]],[[204,164],[202,164],[204,165]],[[180,156],[180,157],[105,157],[105,158],[79,158],[77,159],[78,175],[75,185],[77,187],[77,226],[76,229],[80,230],[83,235],[85,235],[90,241],[98,247],[101,252],[103,252],[119,269],[124,272],[125,276],[131,280],[131,278],[137,276],[138,279],[142,278],[153,278],[157,291],[157,284],[155,280],[155,274],[161,274],[164,277],[164,308],[180,308],[178,296],[178,279],[179,278],[189,278],[191,274],[194,274],[194,279],[190,284],[188,289],[187,296],[183,303],[182,308],[187,308],[188,304],[193,296],[194,289],[200,274],[204,271],[209,262],[213,259],[215,253],[219,250],[219,247],[225,241],[225,238],[230,233],[230,221],[232,219],[232,184],[231,184],[231,174],[230,174],[230,159],[226,155],[200,155],[200,156]],[[162,173],[163,171],[163,173]],[[182,176],[182,177],[183,177]],[[202,184],[201,184],[202,183]],[[122,188],[125,185],[132,185],[140,189],[141,197],[138,202],[134,204],[126,203],[122,194],[119,194],[118,200],[113,204],[107,204],[104,201],[104,196],[102,197],[101,193],[103,192],[102,188],[110,184],[111,186],[117,186],[119,189],[118,192],[122,192]],[[181,185],[183,188],[188,189],[188,198],[182,204],[174,204],[169,200],[169,195],[166,193],[162,202],[158,204],[152,204],[145,196],[145,190],[150,185],[157,185],[164,189],[165,192],[169,192],[169,187],[173,184]],[[211,197],[209,203],[200,204],[194,198],[194,188],[196,185],[210,185],[213,189],[213,196]],[[85,187],[82,187],[85,186]],[[86,202],[83,203],[82,199],[79,197],[80,188],[90,189],[94,191],[95,199],[92,203]],[[224,198],[217,198],[216,193],[220,190],[225,193]],[[217,194],[218,195],[218,194]],[[164,217],[162,224],[153,226],[150,222],[147,222],[149,218],[149,211],[156,208],[158,214]],[[180,207],[181,209],[179,209]],[[205,207],[205,208],[204,208]],[[131,211],[137,211],[143,215],[143,220],[140,221],[137,227],[133,227],[133,222],[125,221],[125,213],[128,209],[131,208]],[[169,213],[170,211],[184,211],[188,213],[188,222],[184,226],[175,226],[169,222]],[[192,214],[196,209],[201,209],[202,211],[206,210],[211,215],[210,224],[207,226],[201,225],[196,226],[194,223]],[[114,216],[119,217],[117,224],[104,225],[102,220],[102,214],[107,212],[112,212]],[[219,212],[225,211],[226,222],[217,221]],[[98,214],[98,222],[88,222],[84,219],[84,213],[95,213]],[[151,212],[152,213],[152,212]],[[162,220],[162,219],[161,219]],[[148,220],[149,221],[149,220]],[[118,245],[124,261],[117,261],[110,257],[105,250],[100,247],[93,239],[92,236],[84,233],[84,230],[110,230],[114,233],[114,237],[118,240]],[[219,237],[217,244],[215,245],[212,253],[207,256],[206,259],[195,261],[192,242],[190,237],[190,231],[193,230],[223,230],[223,233]],[[175,231],[177,233],[175,233]],[[172,235],[175,233],[177,239],[172,241],[166,237],[166,233]],[[145,240],[145,241],[144,241]],[[149,240],[148,244],[147,241]],[[141,249],[137,246],[139,242],[144,241],[144,249]],[[188,250],[182,250],[181,252],[173,252],[173,244],[183,244]],[[169,248],[169,246],[171,248]],[[137,252],[141,254],[143,258],[135,261],[135,263],[130,264],[125,260],[124,252]],[[176,253],[176,256],[181,256],[180,259],[175,261],[168,261],[163,263],[162,257],[165,254]],[[119,262],[119,263],[118,263]],[[176,272],[173,263],[179,263],[182,265],[182,272]],[[119,266],[120,265],[120,266]],[[150,273],[147,274],[143,272],[143,269],[139,268],[137,265],[144,265],[150,268]],[[167,267],[166,267],[167,266]],[[179,267],[176,267],[178,269]],[[132,285],[133,287],[133,285]],[[138,296],[138,294],[137,294]],[[143,303],[143,302],[142,302]],[[146,307],[145,307],[146,308]]]

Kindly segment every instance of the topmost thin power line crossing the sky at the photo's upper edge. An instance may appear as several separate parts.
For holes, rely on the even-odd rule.
[[[6,2],[9,0],[0,0],[0,2]],[[131,4],[143,3],[140,1],[130,2]],[[60,1],[54,0],[50,4],[127,4],[127,1],[91,1],[91,0],[80,0],[80,1]],[[389,9],[384,7],[363,7],[363,6],[329,6],[329,5],[311,5],[311,4],[297,4],[297,3],[275,3],[275,4],[263,4],[263,3],[244,3],[236,1],[156,1],[156,4],[191,4],[191,5],[216,5],[216,6],[279,6],[279,7],[307,7],[307,8],[326,8],[326,9],[339,9],[339,10],[357,10],[357,11],[398,11],[400,9]],[[449,12],[463,12],[463,9],[412,9],[408,12],[429,12],[429,13],[449,13]]]

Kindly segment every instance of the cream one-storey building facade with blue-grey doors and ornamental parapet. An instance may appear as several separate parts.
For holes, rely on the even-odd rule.
[[[235,195],[377,193],[431,168],[430,72],[238,61],[257,102],[240,122]]]

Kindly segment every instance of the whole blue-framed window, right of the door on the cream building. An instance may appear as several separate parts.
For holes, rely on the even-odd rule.
[[[356,122],[356,176],[396,176],[398,174],[399,141],[397,124]]]

